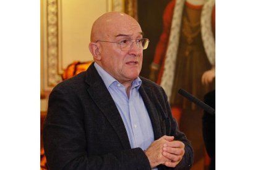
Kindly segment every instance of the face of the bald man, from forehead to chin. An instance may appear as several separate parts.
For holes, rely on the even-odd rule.
[[[121,20],[107,26],[103,41],[121,42],[126,39],[141,39],[142,30],[135,20]],[[100,42],[101,65],[119,83],[131,81],[139,76],[142,69],[143,50],[139,49],[136,42],[128,51],[122,51],[117,43]]]

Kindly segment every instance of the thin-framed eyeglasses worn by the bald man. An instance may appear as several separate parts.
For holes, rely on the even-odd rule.
[[[113,41],[101,41],[98,40],[96,42],[111,42],[111,43],[116,43],[119,44],[119,46],[121,47],[122,51],[129,51],[132,47],[132,44],[134,42],[136,42],[138,48],[141,49],[147,49],[148,47],[148,42],[149,40],[147,38],[142,38],[142,39],[124,39],[120,42],[113,42]]]

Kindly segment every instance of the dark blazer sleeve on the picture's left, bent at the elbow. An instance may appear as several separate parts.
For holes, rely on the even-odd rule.
[[[49,96],[43,128],[49,169],[151,169],[141,148],[88,156],[83,103],[74,89],[65,88],[58,86]],[[102,145],[102,148],[108,147],[108,144]]]

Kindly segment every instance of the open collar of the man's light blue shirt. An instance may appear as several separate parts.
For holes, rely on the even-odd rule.
[[[105,83],[105,86],[108,88],[112,83],[115,81],[118,82],[113,76],[109,75],[107,71],[105,71],[103,68],[100,67],[96,62],[94,63],[94,66],[96,70],[98,71],[99,75],[103,79],[103,82]],[[136,89],[139,89],[139,87],[142,84],[142,80],[138,77],[132,81],[132,88],[136,87]]]

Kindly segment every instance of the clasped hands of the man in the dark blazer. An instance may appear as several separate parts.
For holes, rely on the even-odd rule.
[[[158,164],[174,168],[182,160],[185,153],[184,147],[185,145],[181,141],[174,140],[174,136],[163,136],[155,140],[145,150],[145,154],[150,161],[151,168]]]

